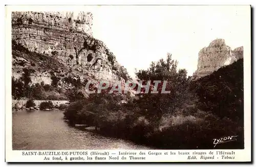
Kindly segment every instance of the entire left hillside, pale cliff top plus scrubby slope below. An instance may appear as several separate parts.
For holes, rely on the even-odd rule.
[[[69,100],[69,90],[87,96],[83,87],[88,81],[129,80],[108,47],[93,38],[92,21],[90,12],[77,17],[72,12],[13,12],[13,89],[24,89],[13,90],[13,98]],[[51,88],[44,89],[44,85]],[[34,87],[44,95],[31,96]],[[49,89],[50,94],[46,93]]]

